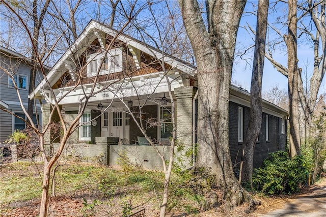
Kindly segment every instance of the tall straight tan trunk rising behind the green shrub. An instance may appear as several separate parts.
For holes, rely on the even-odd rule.
[[[298,68],[297,68],[297,44],[296,44],[296,0],[289,1],[288,35],[285,42],[288,50],[288,89],[289,89],[289,124],[290,124],[290,155],[300,154],[300,114],[298,94]]]

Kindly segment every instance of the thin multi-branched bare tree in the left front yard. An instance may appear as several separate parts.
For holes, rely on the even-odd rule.
[[[16,17],[17,19],[21,22],[22,26],[23,26],[23,30],[25,31],[25,33],[29,36],[30,38],[30,43],[32,44],[33,50],[35,52],[35,59],[30,59],[30,61],[32,61],[32,65],[36,66],[36,69],[42,74],[43,78],[44,78],[44,82],[48,87],[52,87],[52,85],[50,84],[49,80],[47,79],[47,75],[46,75],[46,71],[44,69],[44,65],[43,65],[43,61],[40,58],[40,50],[37,49],[37,45],[39,42],[35,42],[34,38],[33,38],[33,32],[30,30],[29,26],[26,24],[26,20],[24,20],[19,13],[17,12],[17,10],[12,7],[11,4],[2,1],[3,5],[9,10],[11,11]],[[123,6],[122,6],[123,7]],[[126,15],[126,22],[123,25],[123,28],[120,30],[120,32],[118,33],[118,35],[126,28],[126,26],[130,23],[130,21],[134,18],[134,16],[138,15],[138,13],[142,10],[142,8],[135,10],[135,4],[130,5],[130,8],[128,8],[125,13]],[[60,38],[60,37],[59,37]],[[116,38],[113,38],[112,43],[114,43]],[[56,42],[58,43],[59,40],[57,40]],[[36,44],[35,44],[36,43]],[[51,48],[48,50],[48,53],[51,53],[53,51],[53,49],[55,49],[56,43],[54,43]],[[112,44],[108,45],[107,48],[110,48],[110,46],[112,46]],[[73,46],[70,46],[69,50],[74,50]],[[107,50],[106,50],[107,52]],[[75,66],[81,66],[81,64],[78,64],[78,61],[82,61],[82,60],[76,60],[75,62]],[[86,66],[87,67],[87,66]],[[76,74],[79,75],[76,77],[76,83],[74,84],[74,87],[72,87],[71,91],[73,91],[77,86],[82,86],[84,85],[83,83],[83,71],[84,71],[85,66],[83,67],[76,67]],[[13,78],[13,74],[15,73],[14,71],[11,70],[11,68],[4,68],[2,67],[2,70],[9,76],[12,78],[13,80],[13,84],[14,87],[16,89],[16,93],[18,95],[19,98],[19,102],[20,102],[20,107],[23,111],[23,113],[25,114],[25,116],[27,117],[28,121],[26,121],[26,125],[28,127],[30,127],[39,137],[39,143],[40,143],[40,150],[41,150],[41,156],[44,162],[44,169],[43,169],[43,180],[42,180],[42,199],[41,199],[41,205],[40,205],[40,216],[47,216],[48,213],[48,205],[49,205],[49,187],[50,187],[50,171],[53,167],[53,165],[56,164],[57,160],[60,158],[60,156],[63,153],[63,150],[67,144],[67,141],[70,137],[70,135],[79,127],[79,119],[80,117],[83,116],[85,108],[88,104],[88,101],[90,99],[90,97],[92,97],[92,95],[95,93],[95,86],[97,84],[97,76],[96,78],[93,80],[92,83],[92,88],[90,93],[86,93],[84,91],[84,96],[82,97],[82,99],[80,99],[79,102],[79,108],[78,108],[78,115],[71,121],[70,124],[66,124],[65,122],[65,118],[63,116],[63,114],[61,113],[61,107],[59,105],[60,101],[66,96],[66,94],[60,98],[53,98],[52,104],[50,104],[50,111],[49,112],[49,119],[47,120],[47,124],[43,125],[42,129],[40,129],[39,127],[37,127],[33,121],[32,121],[32,116],[28,114],[28,112],[26,111],[25,107],[23,106],[21,97],[20,97],[20,92],[19,89],[17,87],[17,84],[15,83],[15,80]],[[99,71],[97,72],[99,73]],[[111,84],[112,85],[112,84]],[[107,88],[107,87],[104,87]],[[34,89],[34,87],[33,87]],[[84,90],[84,88],[82,88]],[[103,89],[101,89],[103,90]],[[98,90],[101,91],[101,90]],[[49,94],[52,96],[55,96],[56,94],[53,92],[52,88],[49,88]],[[33,99],[34,100],[34,99]],[[5,112],[10,113],[11,115],[14,115],[13,112],[6,110],[5,108],[1,107],[2,110],[4,110]],[[62,126],[62,135],[60,138],[60,145],[59,148],[55,151],[55,153],[53,153],[53,155],[48,155],[46,152],[46,147],[45,147],[45,143],[46,141],[45,139],[45,134],[48,132],[49,128],[50,128],[50,124],[53,121],[53,116],[56,115],[58,116],[59,122],[61,123]],[[19,117],[18,117],[19,118]],[[21,118],[20,118],[21,119]],[[21,119],[23,120],[23,119]],[[23,120],[25,121],[25,120]]]

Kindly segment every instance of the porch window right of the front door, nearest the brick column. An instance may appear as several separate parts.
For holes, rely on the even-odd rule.
[[[168,140],[172,137],[173,125],[171,119],[171,106],[160,106],[159,108],[160,121],[160,138]]]

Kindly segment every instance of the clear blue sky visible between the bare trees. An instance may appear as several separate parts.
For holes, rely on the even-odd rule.
[[[97,12],[98,12],[98,5],[99,3],[105,4],[108,2],[105,1],[90,1],[87,4],[87,8],[85,10],[81,10],[80,13],[78,13],[78,18],[84,20],[84,24],[86,25],[91,18],[96,18],[94,17]],[[155,2],[155,1],[154,1]],[[64,3],[58,0],[58,3]],[[143,0],[139,2],[140,5],[146,4]],[[163,2],[165,3],[165,2]],[[174,5],[177,7],[177,2],[171,0],[170,1],[171,5]],[[169,4],[170,4],[169,3]],[[202,2],[203,4],[203,2]],[[243,87],[244,89],[247,89],[250,91],[250,84],[251,84],[251,74],[252,74],[252,56],[253,56],[253,51],[254,49],[249,50],[248,55],[244,56],[244,58],[247,59],[248,62],[245,60],[241,60],[239,58],[239,53],[242,53],[244,49],[250,47],[251,45],[254,44],[253,41],[253,35],[249,34],[248,31],[244,29],[244,26],[248,26],[250,24],[253,29],[256,29],[256,16],[248,13],[248,12],[253,12],[255,11],[254,5],[257,4],[257,1],[248,1],[246,8],[244,9],[244,15],[241,18],[240,22],[240,28],[238,31],[238,36],[237,36],[237,48],[236,48],[236,55],[237,57],[235,58],[234,61],[234,66],[233,66],[233,74],[232,74],[232,81],[236,83],[237,85]],[[170,6],[171,6],[170,5]],[[270,5],[273,5],[273,2],[270,1]],[[161,4],[158,5],[158,10],[163,10],[166,5]],[[64,6],[63,6],[64,7]],[[284,3],[278,3],[276,6],[276,10],[269,10],[270,14],[268,15],[268,19],[270,23],[275,22],[277,17],[279,16],[286,16],[287,15],[287,10],[286,10],[286,5]],[[203,9],[204,10],[204,9]],[[86,13],[85,13],[86,12]],[[144,19],[146,20],[146,14],[141,14]],[[101,21],[107,21],[110,19],[110,13],[108,11],[103,11],[101,12],[100,15],[100,20]],[[151,20],[147,20],[150,22]],[[1,28],[5,28],[5,26],[2,24],[0,25]],[[85,26],[78,26],[78,30],[82,31]],[[281,29],[281,27],[279,26]],[[3,31],[1,31],[3,32]],[[282,33],[286,34],[286,28],[282,29]],[[274,40],[275,34],[273,31],[267,32],[268,34],[268,40]],[[282,63],[284,66],[287,66],[287,53],[286,49],[283,46],[283,48],[277,49],[273,52],[273,57]],[[310,49],[309,45],[305,43],[301,43],[298,46],[298,65],[299,67],[306,68],[306,64],[308,64],[308,71],[312,71],[313,67],[313,51]],[[326,92],[326,82],[325,78],[323,79],[322,86],[320,87],[320,93],[325,93]],[[262,90],[263,92],[267,92],[271,88],[275,86],[279,86],[281,89],[287,89],[287,78],[282,75],[280,72],[278,72],[270,63],[268,60],[265,59],[265,64],[264,64],[264,73],[263,73],[263,84],[262,84]]]

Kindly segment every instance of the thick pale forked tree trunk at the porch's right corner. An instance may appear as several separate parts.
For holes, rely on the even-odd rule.
[[[229,150],[229,90],[235,38],[246,1],[206,1],[207,29],[197,1],[180,0],[187,35],[198,70],[198,156],[195,173],[202,168],[212,173],[213,185],[221,187],[226,207],[252,198],[237,183]],[[216,193],[208,193],[216,206]]]

